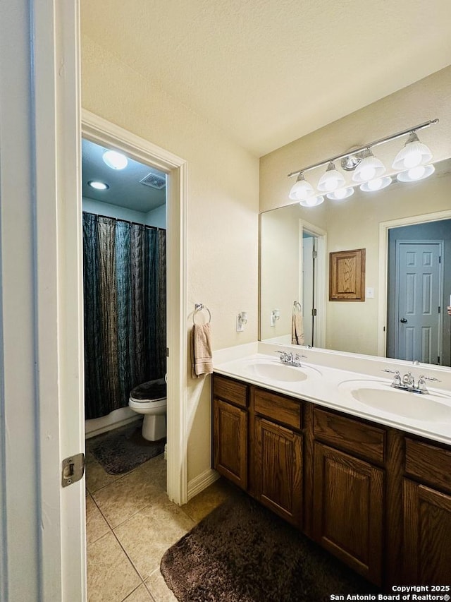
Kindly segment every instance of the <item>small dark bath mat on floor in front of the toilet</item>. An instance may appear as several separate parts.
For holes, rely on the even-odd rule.
[[[109,474],[123,474],[164,452],[166,438],[147,441],[141,426],[117,428],[88,439],[87,447]]]

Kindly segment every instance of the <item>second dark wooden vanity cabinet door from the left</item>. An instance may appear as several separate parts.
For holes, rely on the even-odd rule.
[[[292,524],[302,524],[302,435],[256,417],[257,499]]]

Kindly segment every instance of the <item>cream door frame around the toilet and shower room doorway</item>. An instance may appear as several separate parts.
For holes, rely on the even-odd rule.
[[[81,133],[168,174],[166,194],[166,346],[168,347],[168,498],[187,502],[187,163],[173,153],[82,109]],[[80,217],[81,219],[81,217]],[[81,283],[82,284],[82,283]],[[82,308],[81,308],[82,311]],[[177,400],[177,402],[175,402]]]

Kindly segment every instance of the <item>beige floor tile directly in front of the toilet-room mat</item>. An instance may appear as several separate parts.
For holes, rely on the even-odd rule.
[[[140,466],[111,485],[94,491],[92,497],[109,525],[115,527],[151,504],[158,495],[161,488],[152,483],[148,472]]]

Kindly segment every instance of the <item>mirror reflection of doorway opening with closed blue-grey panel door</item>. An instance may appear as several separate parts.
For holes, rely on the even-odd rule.
[[[451,219],[388,232],[387,356],[451,364]]]

